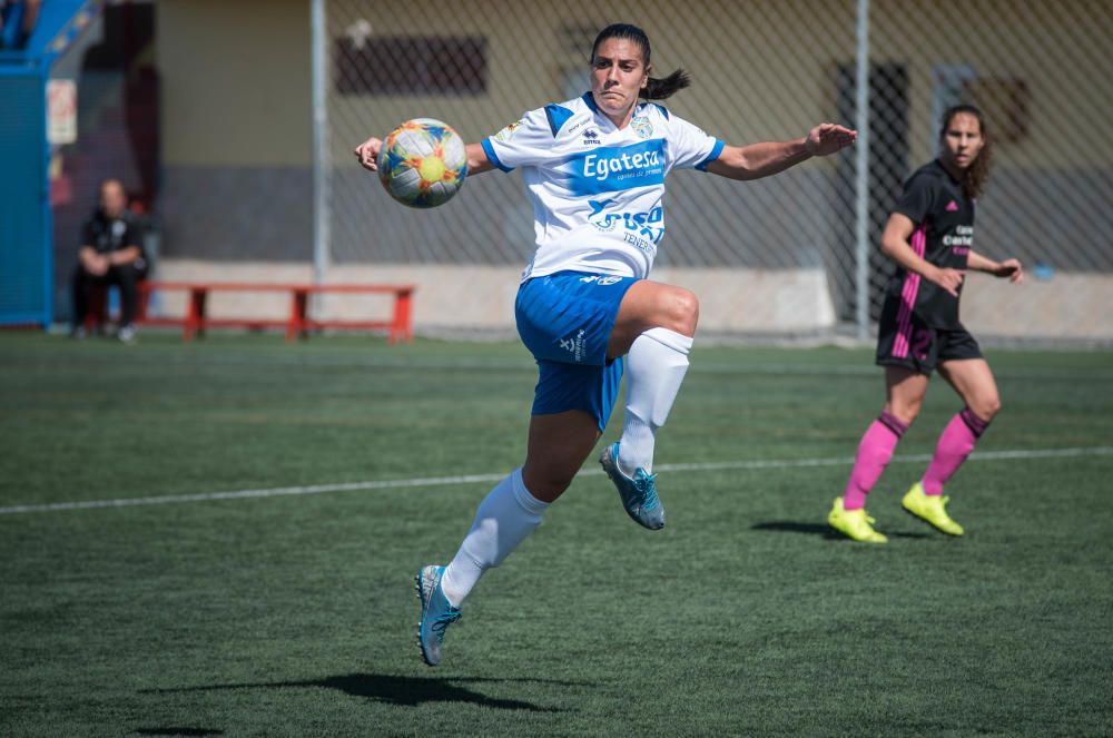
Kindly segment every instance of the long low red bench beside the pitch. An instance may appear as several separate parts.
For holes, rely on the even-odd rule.
[[[253,284],[240,282],[159,282],[147,281],[139,285],[139,305],[136,323],[141,325],[180,325],[183,341],[201,336],[210,327],[285,328],[286,341],[304,337],[318,328],[352,328],[358,331],[386,331],[391,343],[413,340],[412,296],[414,285],[328,285],[328,284]],[[150,297],[159,292],[185,292],[186,311],[181,317],[150,314]],[[208,297],[216,292],[288,293],[289,312],[285,318],[266,317],[209,317]],[[394,295],[394,311],[390,319],[317,319],[309,315],[309,296],[324,294]]]

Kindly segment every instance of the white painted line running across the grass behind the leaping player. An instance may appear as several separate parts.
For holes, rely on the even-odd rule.
[[[1113,446],[1082,449],[1032,449],[1026,451],[986,451],[974,453],[969,461],[1002,461],[1009,459],[1058,459],[1065,456],[1110,456]],[[892,463],[922,463],[930,460],[930,454],[894,456]],[[723,461],[699,464],[659,464],[658,472],[702,472],[721,470],[801,469],[806,466],[837,466],[854,463],[853,456],[825,459],[770,459],[766,461]],[[581,476],[601,475],[600,470],[583,470]],[[498,482],[506,472],[494,474],[466,474],[462,476],[427,476],[406,480],[382,480],[377,482],[349,482],[346,484],[313,484],[309,486],[284,486],[267,490],[238,490],[235,492],[199,492],[196,494],[165,494],[148,498],[119,498],[116,500],[85,500],[78,502],[51,502],[48,504],[11,505],[0,508],[0,515],[16,515],[31,512],[57,512],[63,510],[91,510],[97,508],[131,508],[136,505],[158,505],[176,502],[208,502],[211,500],[247,500],[253,498],[282,498],[328,492],[355,492],[366,490],[402,490],[414,486],[446,486],[451,484],[476,484]]]

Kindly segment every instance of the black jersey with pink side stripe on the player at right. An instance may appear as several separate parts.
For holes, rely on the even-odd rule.
[[[916,254],[937,267],[966,268],[974,243],[974,199],[938,159],[913,173],[893,209],[915,224],[908,242]],[[961,327],[958,297],[899,266],[889,281],[887,301],[899,301],[905,322],[915,313],[933,327]]]

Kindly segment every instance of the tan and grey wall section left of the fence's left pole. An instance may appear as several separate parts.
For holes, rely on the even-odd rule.
[[[311,259],[306,0],[159,0],[162,253]]]

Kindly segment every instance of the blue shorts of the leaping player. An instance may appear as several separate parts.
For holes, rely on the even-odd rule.
[[[533,414],[591,413],[607,427],[622,381],[622,360],[607,344],[622,298],[638,279],[583,272],[533,277],[518,288],[514,316],[522,343],[538,360]]]

